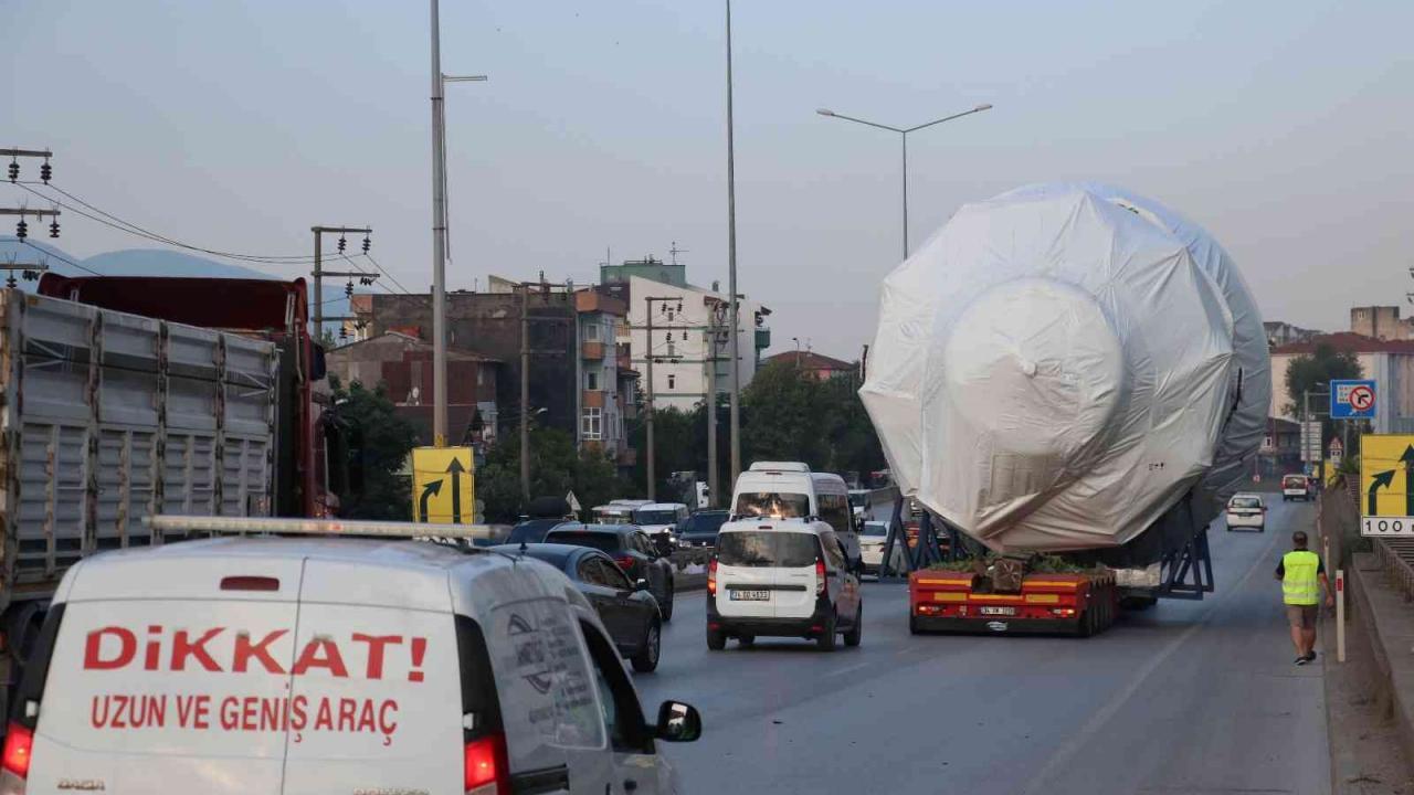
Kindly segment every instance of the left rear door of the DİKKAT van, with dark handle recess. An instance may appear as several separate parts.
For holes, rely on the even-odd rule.
[[[117,555],[76,574],[27,792],[280,792],[301,562]]]

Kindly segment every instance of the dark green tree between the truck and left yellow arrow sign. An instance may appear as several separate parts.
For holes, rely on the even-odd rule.
[[[351,519],[407,519],[411,484],[403,470],[409,451],[417,444],[416,429],[393,410],[383,385],[368,389],[355,381],[345,389],[337,378],[329,379],[329,385],[338,422],[351,441],[341,450],[344,467],[332,465],[339,451],[329,451],[331,468],[352,474],[331,478],[344,485],[338,492],[339,513]]]

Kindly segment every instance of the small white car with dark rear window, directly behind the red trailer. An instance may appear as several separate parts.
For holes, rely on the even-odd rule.
[[[707,564],[707,648],[727,638],[742,645],[756,635],[814,639],[834,651],[836,638],[857,646],[864,600],[854,566],[824,522],[727,522]]]

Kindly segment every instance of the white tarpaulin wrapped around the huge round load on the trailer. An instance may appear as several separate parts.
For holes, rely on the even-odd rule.
[[[860,390],[904,494],[998,552],[1126,545],[1181,501],[1206,525],[1270,393],[1222,246],[1093,184],[959,209],[885,279]]]

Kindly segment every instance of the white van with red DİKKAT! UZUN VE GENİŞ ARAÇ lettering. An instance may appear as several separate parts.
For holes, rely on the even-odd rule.
[[[409,532],[264,521],[281,522]],[[0,792],[672,792],[656,740],[700,730],[674,702],[643,720],[594,608],[543,563],[406,539],[215,538],[69,569]]]

